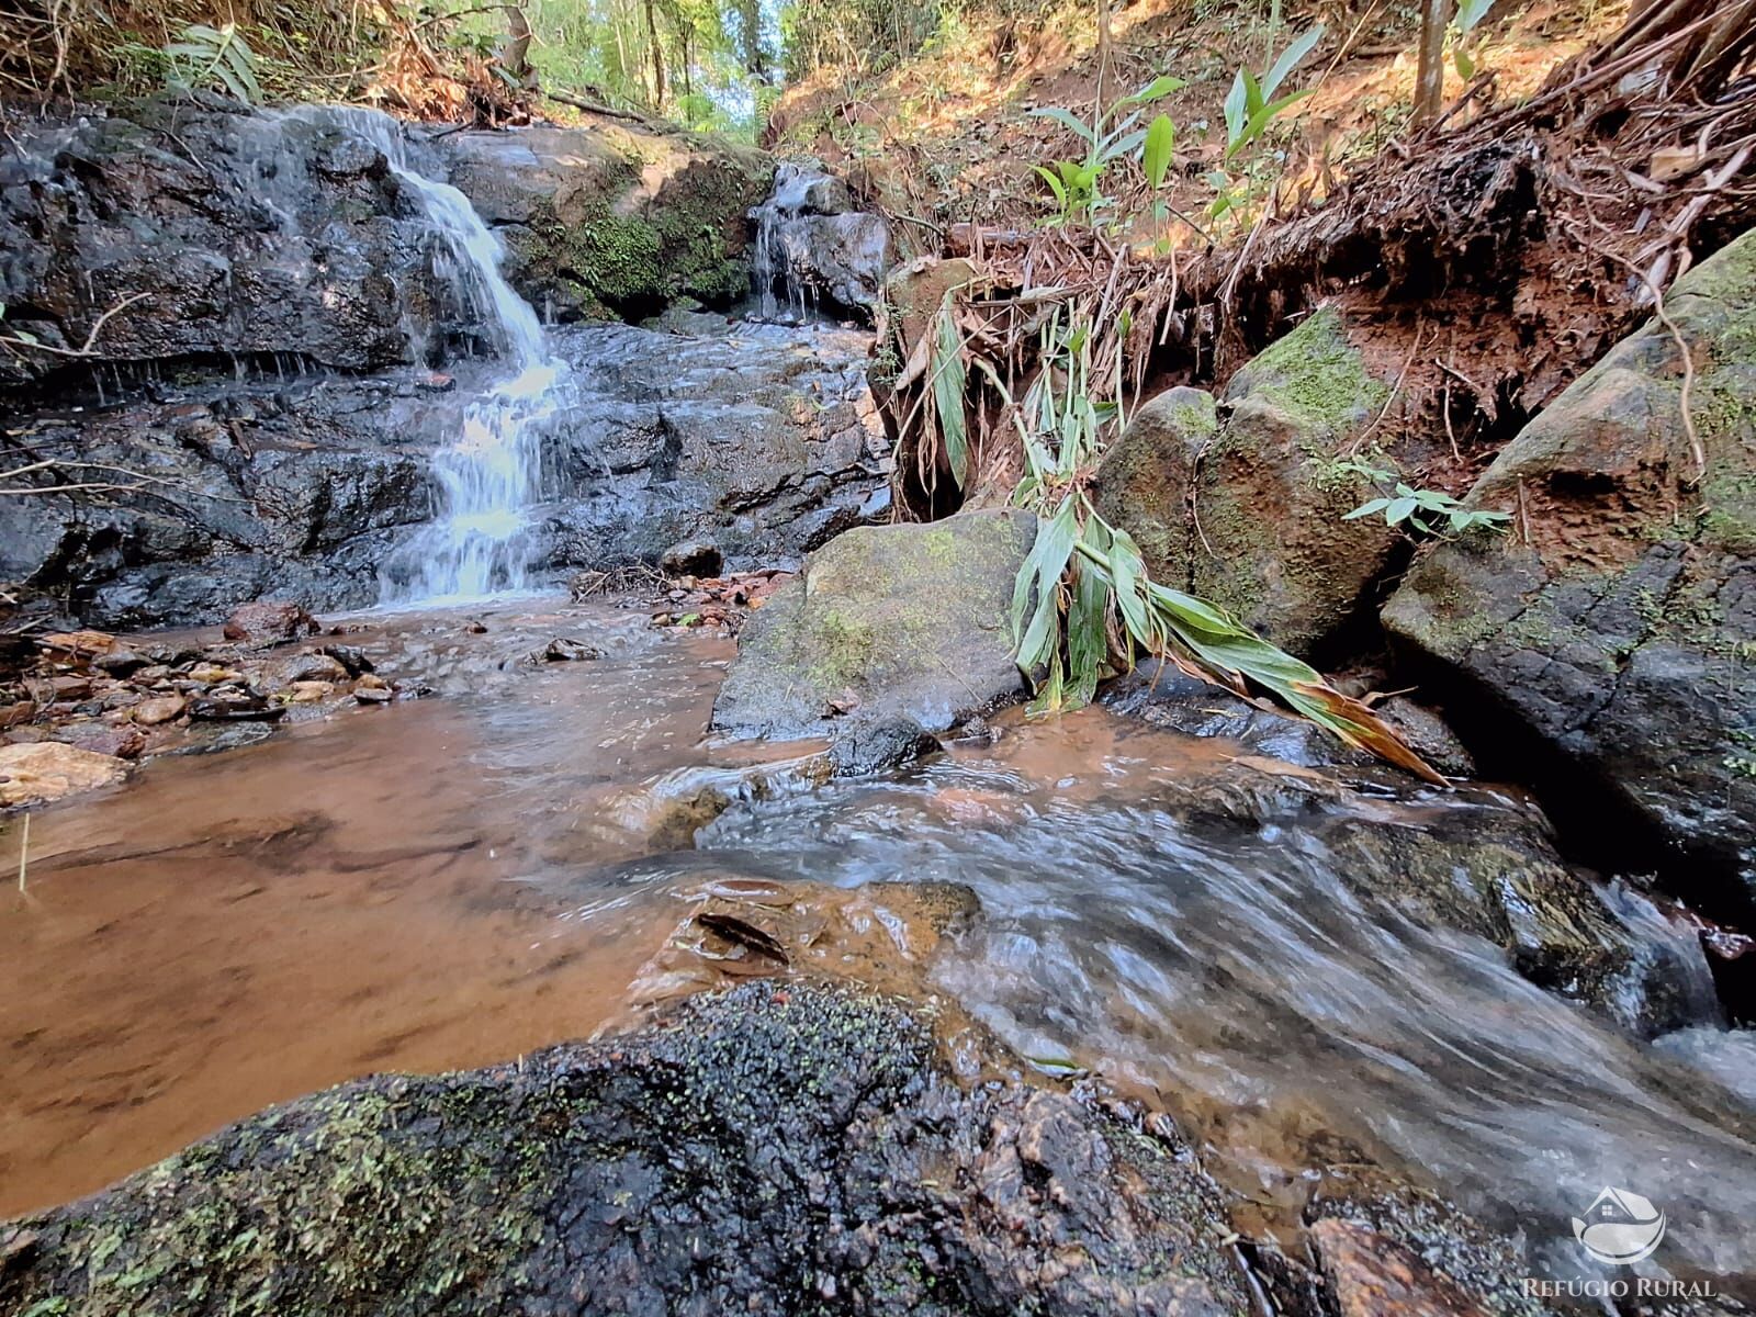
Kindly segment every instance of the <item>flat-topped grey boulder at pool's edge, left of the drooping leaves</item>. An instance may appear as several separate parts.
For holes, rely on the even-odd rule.
[[[845,722],[941,730],[1022,692],[1008,609],[1036,537],[1020,511],[859,527],[745,625],[713,723],[811,736]]]

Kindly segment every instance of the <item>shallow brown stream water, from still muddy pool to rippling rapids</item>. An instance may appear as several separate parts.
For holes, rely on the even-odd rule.
[[[1168,1110],[1268,1222],[1315,1166],[1371,1157],[1538,1252],[1621,1185],[1666,1208],[1673,1264],[1756,1273],[1751,1098],[1724,1078],[1749,1047],[1710,1003],[1637,1043],[1498,948],[1375,908],[1321,827],[1192,824],[1166,801],[1236,757],[1222,743],[1008,715],[994,745],[734,802],[690,846],[655,839],[666,799],[810,750],[704,739],[730,641],[546,601],[360,623],[349,643],[437,697],[160,759],[35,815],[26,892],[0,896],[0,1217],[337,1080],[627,1020],[702,883],[961,883],[982,913],[920,990],[1043,1082],[1090,1069]],[[606,657],[520,662],[551,636]],[[1322,804],[1408,829],[1526,808],[1486,788]]]

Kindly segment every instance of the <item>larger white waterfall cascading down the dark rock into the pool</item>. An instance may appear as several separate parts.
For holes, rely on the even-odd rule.
[[[291,111],[363,137],[420,198],[441,239],[439,272],[483,323],[511,374],[469,402],[457,432],[434,453],[437,516],[392,551],[379,602],[479,599],[529,585],[530,509],[541,500],[541,430],[555,413],[565,362],[550,356],[536,309],[500,274],[500,239],[469,198],[414,163],[402,126],[351,107]]]

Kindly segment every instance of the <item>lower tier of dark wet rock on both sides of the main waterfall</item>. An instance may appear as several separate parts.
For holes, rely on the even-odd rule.
[[[797,557],[883,486],[862,335],[553,337],[574,369],[544,432],[539,569],[657,562],[685,539]],[[0,579],[107,627],[220,622],[248,599],[367,606],[390,550],[434,515],[432,450],[495,369],[462,362],[443,393],[418,371],[197,378],[151,386],[163,402],[23,418],[0,451],[79,453],[151,483],[0,499]]]

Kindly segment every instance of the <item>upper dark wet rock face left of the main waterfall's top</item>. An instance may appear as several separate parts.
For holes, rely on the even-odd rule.
[[[432,276],[434,234],[341,119],[146,104],[19,125],[0,155],[11,330],[105,362],[286,353],[348,371],[414,360],[406,323],[474,328]],[[0,388],[84,365],[5,353]]]

